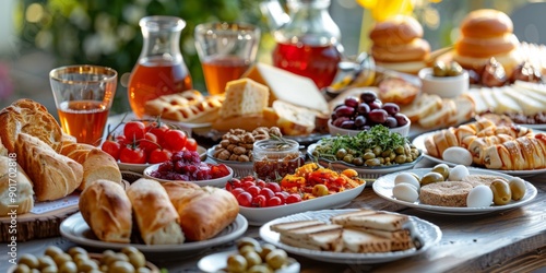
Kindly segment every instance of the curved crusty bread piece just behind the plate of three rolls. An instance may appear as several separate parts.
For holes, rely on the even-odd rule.
[[[83,166],[83,177],[79,190],[97,179],[106,179],[121,183],[121,171],[114,157],[90,144],[70,143],[62,145],[61,152]]]

